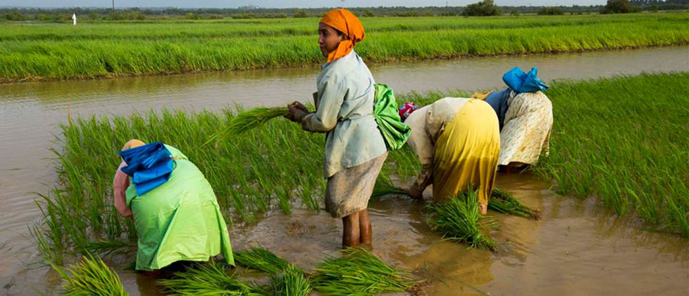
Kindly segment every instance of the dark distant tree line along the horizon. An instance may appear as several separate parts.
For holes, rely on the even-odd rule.
[[[267,19],[320,17],[332,8],[0,8],[0,19],[10,21],[69,21],[72,13],[92,20],[145,19]],[[686,10],[689,0],[608,0],[606,6],[496,6],[483,0],[468,6],[348,8],[360,17],[489,16],[501,14],[625,13],[641,10]]]

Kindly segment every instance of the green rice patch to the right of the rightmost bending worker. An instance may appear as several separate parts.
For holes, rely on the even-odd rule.
[[[689,237],[689,73],[562,81],[551,156],[535,173],[640,226]]]

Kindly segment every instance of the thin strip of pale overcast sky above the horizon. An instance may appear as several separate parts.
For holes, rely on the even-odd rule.
[[[24,7],[111,7],[112,0],[0,0],[0,6]],[[478,0],[448,0],[449,6],[466,6]],[[345,7],[371,6],[445,6],[445,0],[345,0]],[[589,6],[606,0],[495,0],[500,6]],[[265,8],[320,8],[342,6],[337,0],[115,0],[116,7],[236,8],[255,5]]]

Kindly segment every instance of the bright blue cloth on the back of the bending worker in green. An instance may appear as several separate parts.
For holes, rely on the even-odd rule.
[[[139,196],[161,186],[172,175],[172,154],[162,142],[123,150],[120,151],[120,156],[127,162],[127,167],[122,167],[121,170],[132,177]]]

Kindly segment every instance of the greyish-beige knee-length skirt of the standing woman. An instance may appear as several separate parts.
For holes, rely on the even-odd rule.
[[[333,215],[333,218],[342,218],[368,207],[373,186],[376,185],[378,173],[387,154],[386,151],[372,160],[356,167],[342,169],[328,178],[325,210]]]

